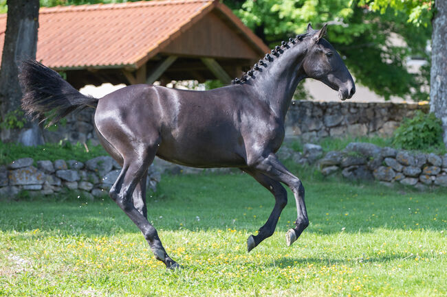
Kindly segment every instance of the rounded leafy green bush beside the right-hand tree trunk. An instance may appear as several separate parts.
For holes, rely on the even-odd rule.
[[[433,113],[417,110],[413,119],[404,119],[395,130],[393,144],[406,150],[441,147],[442,131],[441,120]]]

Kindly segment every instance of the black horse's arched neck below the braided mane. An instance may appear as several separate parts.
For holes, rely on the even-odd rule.
[[[268,102],[276,117],[283,120],[296,86],[306,78],[303,71],[306,46],[302,43],[285,49],[279,57],[272,55],[274,60],[267,62],[268,66],[262,67],[262,73],[252,82],[259,97]]]

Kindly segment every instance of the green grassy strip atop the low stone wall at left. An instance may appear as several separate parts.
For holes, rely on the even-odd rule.
[[[6,165],[19,158],[34,158],[34,161],[58,159],[76,160],[85,162],[97,156],[107,156],[107,152],[100,146],[93,146],[87,143],[89,152],[81,143],[72,145],[69,142],[45,143],[37,147],[26,147],[15,143],[0,142],[0,165]]]

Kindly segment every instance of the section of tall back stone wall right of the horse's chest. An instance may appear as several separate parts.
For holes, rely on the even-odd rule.
[[[285,136],[303,141],[327,136],[391,136],[404,117],[428,109],[428,104],[294,101],[285,119]]]

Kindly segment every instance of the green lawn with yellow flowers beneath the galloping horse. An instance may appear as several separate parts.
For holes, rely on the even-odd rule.
[[[303,176],[310,225],[246,252],[270,193],[246,175],[164,176],[149,217],[166,271],[107,198],[0,202],[0,296],[446,296],[447,198]]]

